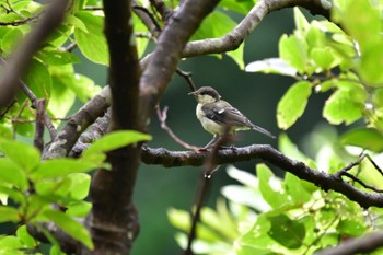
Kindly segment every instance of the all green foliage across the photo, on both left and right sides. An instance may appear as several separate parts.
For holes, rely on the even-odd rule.
[[[142,5],[147,1],[139,1]],[[164,1],[167,7],[177,1]],[[237,22],[233,15],[244,15],[256,0],[222,0],[192,37],[193,40],[217,38],[232,31]],[[278,103],[279,128],[292,127],[310,107],[315,93],[328,98],[323,117],[328,124],[346,125],[347,132],[337,137],[333,131],[317,129],[307,138],[309,158],[298,150],[285,135],[280,136],[280,151],[306,165],[334,173],[356,160],[363,150],[372,159],[383,151],[383,59],[382,1],[333,1],[332,22],[309,22],[295,8],[295,30],[279,40],[279,57],[257,60],[246,66],[248,72],[288,76],[295,82]],[[12,58],[19,43],[33,28],[45,5],[40,1],[1,1],[0,50],[4,59]],[[37,98],[47,102],[47,114],[56,119],[67,117],[77,102],[88,102],[101,91],[95,82],[77,73],[74,65],[80,58],[72,53],[78,47],[81,57],[108,66],[109,54],[103,33],[104,16],[98,0],[74,0],[66,13],[65,22],[49,36],[34,57],[21,79]],[[360,10],[363,10],[361,12]],[[158,19],[163,25],[163,22]],[[139,57],[150,50],[148,28],[134,16]],[[244,69],[244,44],[225,53]],[[216,54],[214,57],[221,58]],[[54,244],[51,254],[61,254],[59,243],[44,223],[54,222],[63,232],[92,248],[90,234],[81,223],[91,209],[86,201],[90,172],[108,171],[105,152],[139,141],[150,136],[136,131],[114,132],[93,143],[82,158],[42,161],[42,152],[19,140],[28,140],[35,134],[36,109],[30,98],[19,92],[15,101],[0,118],[0,223],[14,223],[14,234],[0,237],[0,253],[38,253],[39,242],[26,227],[46,234]],[[353,128],[351,124],[365,127]],[[18,139],[14,139],[18,138]],[[357,152],[348,146],[357,147]],[[382,176],[373,161],[365,158],[350,173],[363,183],[382,189]],[[228,174],[241,183],[222,188],[217,209],[204,208],[198,239],[194,251],[204,254],[312,254],[339,241],[361,236],[380,228],[381,209],[363,211],[357,204],[334,192],[325,193],[313,184],[291,174],[283,178],[264,164],[256,166],[256,176],[234,167]],[[371,192],[360,183],[353,184]],[[170,209],[173,225],[187,232],[188,212]],[[371,220],[373,219],[373,220]],[[182,246],[187,237],[177,233]],[[378,254],[378,252],[376,252]]]

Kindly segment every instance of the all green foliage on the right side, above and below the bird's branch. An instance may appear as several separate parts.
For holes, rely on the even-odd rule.
[[[383,5],[381,1],[358,0],[338,0],[334,4],[335,23],[309,22],[294,8],[295,30],[280,37],[279,58],[251,62],[246,71],[297,80],[278,103],[277,120],[283,130],[303,115],[314,93],[329,95],[323,117],[330,125],[350,127],[363,120],[367,127],[350,127],[340,137],[328,128],[317,128],[305,142],[315,160],[300,152],[285,135],[279,138],[279,149],[285,155],[328,173],[345,167],[364,151],[372,154],[372,160],[364,159],[350,173],[381,190],[383,176],[373,162],[383,152],[380,65]],[[227,200],[218,200],[216,210],[202,209],[194,246],[198,254],[313,254],[381,229],[381,209],[363,210],[343,195],[325,193],[290,173],[280,178],[266,165],[258,164],[256,176],[233,166],[228,169],[228,174],[241,185],[223,187],[221,193]],[[359,183],[353,185],[372,192]],[[189,230],[190,218],[185,211],[171,209],[169,218],[177,229]],[[184,233],[177,233],[176,240],[186,246]]]

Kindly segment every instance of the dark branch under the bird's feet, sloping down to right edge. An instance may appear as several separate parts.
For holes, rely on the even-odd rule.
[[[162,148],[142,148],[142,162],[147,164],[161,164],[166,167],[204,164],[208,152],[196,151],[169,151]],[[315,184],[323,190],[335,190],[344,194],[350,200],[358,202],[363,208],[383,207],[383,195],[359,190],[351,184],[344,182],[336,174],[310,169],[302,162],[291,160],[270,146],[253,144],[235,149],[221,149],[217,154],[217,164],[235,163],[262,159],[282,171],[287,171],[301,179]]]

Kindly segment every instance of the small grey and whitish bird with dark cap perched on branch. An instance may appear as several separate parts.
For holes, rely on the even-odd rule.
[[[255,130],[270,138],[276,138],[266,129],[253,124],[239,109],[221,100],[220,94],[211,86],[201,86],[188,94],[194,95],[198,102],[196,115],[204,129],[214,136],[208,146],[216,142],[227,128],[231,134],[239,130]]]

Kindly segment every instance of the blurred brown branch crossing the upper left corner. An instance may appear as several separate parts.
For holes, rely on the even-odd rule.
[[[67,1],[51,1],[36,27],[26,36],[23,44],[4,67],[0,77],[0,107],[13,101],[19,88],[19,79],[30,66],[34,54],[46,37],[61,23]]]

